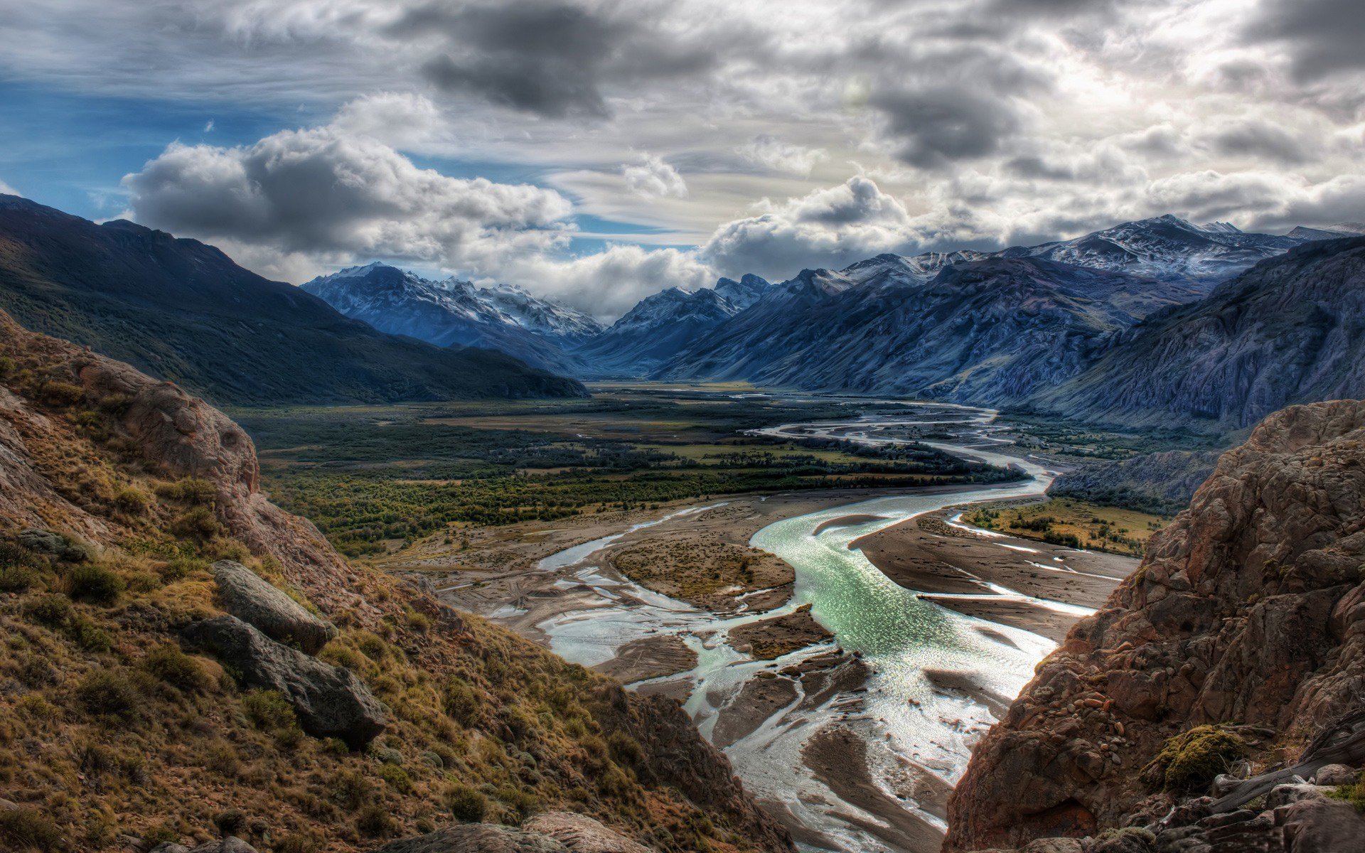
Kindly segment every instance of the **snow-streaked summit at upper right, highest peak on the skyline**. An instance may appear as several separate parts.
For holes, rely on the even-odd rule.
[[[1162,281],[1213,284],[1298,243],[1294,237],[1248,233],[1227,222],[1198,227],[1167,214],[1123,222],[1074,240],[1014,247],[999,254],[1119,270]]]

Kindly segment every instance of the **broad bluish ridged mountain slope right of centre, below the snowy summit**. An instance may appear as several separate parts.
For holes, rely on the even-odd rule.
[[[1106,336],[1196,296],[1037,258],[947,265],[925,281],[883,255],[803,272],[658,375],[1017,403],[1082,370]]]

